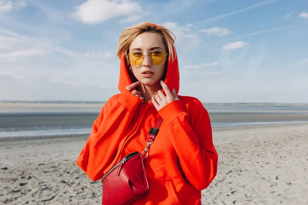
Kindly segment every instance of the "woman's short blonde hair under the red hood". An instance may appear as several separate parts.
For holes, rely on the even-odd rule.
[[[158,26],[158,25],[151,24],[148,22],[145,22],[145,23],[142,22],[137,25],[123,29],[119,37],[119,45],[118,45],[118,52],[117,52],[117,56],[120,60],[129,50],[130,44],[133,42],[133,40],[139,34],[144,33],[144,32],[153,32],[153,33],[160,34],[163,38],[163,43],[167,49],[167,52],[169,52],[168,60],[175,59],[177,55],[176,48],[174,45],[176,36],[171,31],[164,28],[163,26]],[[171,35],[173,35],[174,38],[172,38]]]

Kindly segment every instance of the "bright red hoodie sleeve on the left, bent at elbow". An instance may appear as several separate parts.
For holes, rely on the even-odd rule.
[[[93,181],[101,179],[109,168],[140,101],[125,90],[118,99],[111,97],[94,120],[92,132],[76,161]]]

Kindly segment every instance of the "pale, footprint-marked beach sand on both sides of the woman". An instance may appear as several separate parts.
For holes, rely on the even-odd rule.
[[[218,174],[203,204],[308,204],[308,124],[217,128]],[[87,137],[0,142],[0,204],[100,204],[75,165]]]

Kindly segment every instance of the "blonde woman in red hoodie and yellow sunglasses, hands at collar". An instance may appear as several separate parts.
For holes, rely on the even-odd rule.
[[[163,118],[144,166],[150,191],[133,204],[201,204],[201,190],[217,174],[218,154],[201,101],[178,96],[174,39],[162,26],[143,23],[119,38],[119,90],[93,123],[77,165],[96,181],[127,154],[142,152],[148,131]]]

